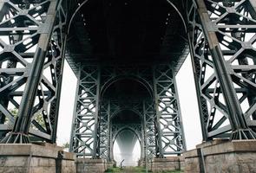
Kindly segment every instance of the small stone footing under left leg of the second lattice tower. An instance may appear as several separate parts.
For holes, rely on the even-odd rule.
[[[76,173],[102,173],[108,164],[103,159],[77,158]]]

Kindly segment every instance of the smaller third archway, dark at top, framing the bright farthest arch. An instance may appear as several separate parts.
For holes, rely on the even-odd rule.
[[[117,164],[124,160],[122,165],[135,166],[141,159],[143,152],[141,120],[141,116],[131,110],[122,110],[112,117],[112,155]]]

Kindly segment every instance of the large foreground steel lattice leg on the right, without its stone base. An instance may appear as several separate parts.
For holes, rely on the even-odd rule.
[[[187,1],[204,140],[256,137],[255,7],[250,0]]]

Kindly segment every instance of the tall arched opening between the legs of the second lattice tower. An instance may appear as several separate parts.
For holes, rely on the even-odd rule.
[[[136,78],[121,77],[106,86],[102,101],[108,102],[111,107],[108,118],[112,132],[110,158],[118,164],[125,159],[124,165],[135,166],[143,150],[141,104],[145,99],[153,100],[152,95],[143,82]]]

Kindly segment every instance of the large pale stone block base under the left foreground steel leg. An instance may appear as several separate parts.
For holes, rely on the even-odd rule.
[[[74,173],[75,155],[53,144],[0,144],[0,172]]]

